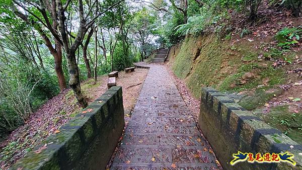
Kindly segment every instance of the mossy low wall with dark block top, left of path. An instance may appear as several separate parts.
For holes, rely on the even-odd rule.
[[[124,129],[122,88],[110,88],[83,111],[11,169],[105,169]]]

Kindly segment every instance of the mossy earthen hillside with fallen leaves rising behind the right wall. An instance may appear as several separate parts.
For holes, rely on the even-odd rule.
[[[298,30],[301,21],[289,23]],[[288,29],[276,23],[271,31],[267,24],[223,39],[213,33],[188,35],[170,49],[169,65],[195,98],[202,87],[216,88],[302,143],[301,43],[280,47],[278,36]]]

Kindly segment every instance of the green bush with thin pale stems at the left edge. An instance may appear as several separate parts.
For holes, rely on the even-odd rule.
[[[3,134],[23,124],[33,111],[57,95],[59,90],[54,74],[39,70],[29,62],[21,60],[2,68],[0,132]]]

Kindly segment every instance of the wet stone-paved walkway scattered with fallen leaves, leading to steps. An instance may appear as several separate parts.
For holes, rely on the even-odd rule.
[[[166,67],[150,65],[111,169],[217,169],[205,143]]]

